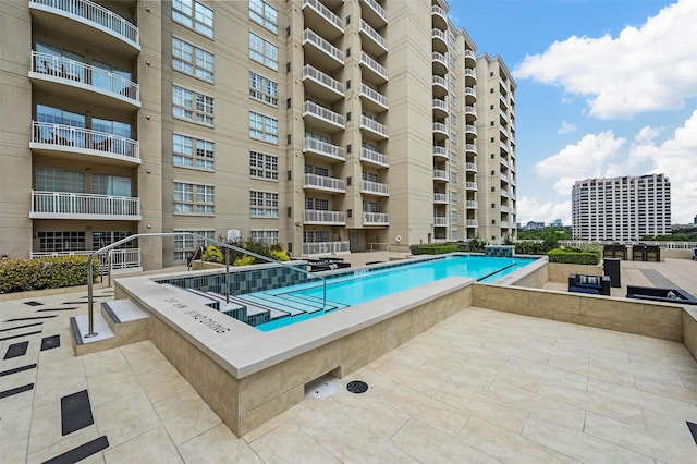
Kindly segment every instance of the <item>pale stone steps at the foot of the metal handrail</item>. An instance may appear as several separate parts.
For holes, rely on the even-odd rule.
[[[147,340],[148,315],[130,300],[108,301],[94,314],[95,337],[87,337],[88,315],[71,317],[70,327],[73,351],[82,356]]]

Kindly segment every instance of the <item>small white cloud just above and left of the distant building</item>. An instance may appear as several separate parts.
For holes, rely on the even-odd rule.
[[[619,157],[625,143],[625,138],[616,138],[612,131],[586,134],[576,145],[567,145],[539,161],[535,170],[543,178],[557,178],[554,190],[560,195],[571,195],[576,181],[601,176],[603,166]]]

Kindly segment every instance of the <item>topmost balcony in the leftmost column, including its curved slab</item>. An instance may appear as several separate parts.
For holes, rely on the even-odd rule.
[[[135,57],[140,51],[138,28],[113,11],[88,0],[29,0],[34,21],[51,30],[89,37],[100,48]]]

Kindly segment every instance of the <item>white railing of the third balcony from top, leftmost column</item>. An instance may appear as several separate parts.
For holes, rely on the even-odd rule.
[[[35,148],[91,151],[99,156],[118,156],[140,162],[138,141],[71,125],[33,121],[32,145]]]

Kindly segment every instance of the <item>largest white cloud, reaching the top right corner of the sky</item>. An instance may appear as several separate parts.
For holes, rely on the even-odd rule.
[[[527,56],[516,78],[557,84],[588,99],[590,115],[674,110],[697,96],[697,1],[680,0],[617,37],[572,36]]]

